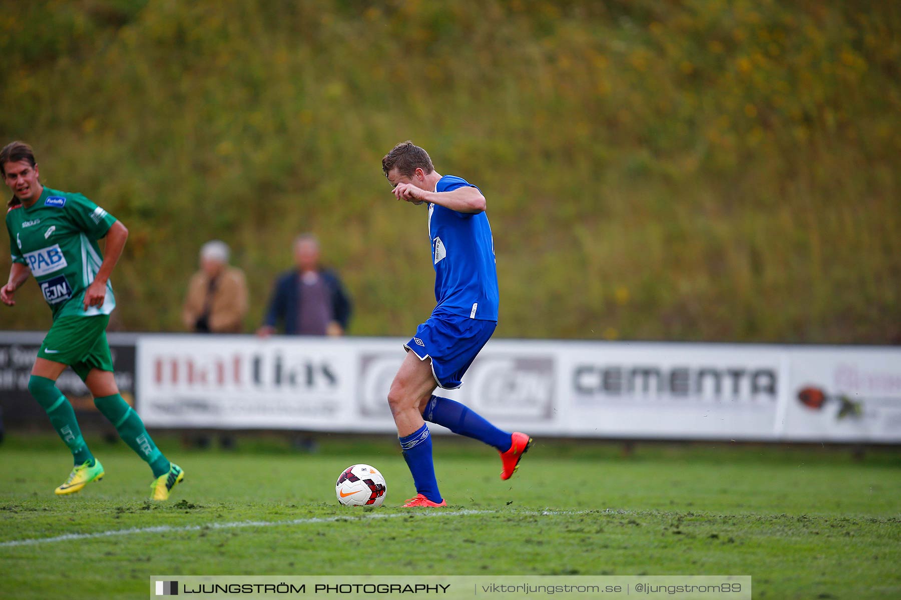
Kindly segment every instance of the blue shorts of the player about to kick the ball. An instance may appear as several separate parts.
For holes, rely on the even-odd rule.
[[[445,390],[459,388],[463,373],[495,333],[496,321],[457,315],[432,315],[404,347],[424,361],[432,359],[432,374]]]

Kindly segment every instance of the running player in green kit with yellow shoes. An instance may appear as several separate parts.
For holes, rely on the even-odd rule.
[[[72,405],[56,387],[59,374],[70,366],[123,441],[150,464],[154,477],[150,497],[166,500],[185,472],[159,452],[141,417],[119,394],[106,342],[106,324],[115,308],[109,277],[122,255],[128,229],[80,193],[44,187],[32,148],[23,142],[0,150],[0,172],[14,194],[6,210],[13,264],[9,282],[0,288],[0,300],[14,306],[15,291],[32,274],[53,313],[28,390],[75,458],[75,467],[56,493],[73,494],[104,476],[103,466],[81,436]],[[101,237],[106,237],[105,257],[97,246]]]

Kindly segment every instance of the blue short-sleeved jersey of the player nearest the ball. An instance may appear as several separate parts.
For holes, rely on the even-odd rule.
[[[469,184],[444,175],[435,192],[452,192]],[[484,212],[457,212],[429,204],[429,237],[435,266],[435,301],[432,314],[451,314],[486,321],[497,320],[495,243]]]

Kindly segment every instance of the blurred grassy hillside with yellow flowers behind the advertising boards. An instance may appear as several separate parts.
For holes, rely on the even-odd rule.
[[[132,231],[125,328],[180,327],[212,237],[254,327],[312,230],[352,331],[408,334],[425,213],[379,159],[414,139],[486,193],[499,335],[901,340],[893,3],[34,2],[0,46],[0,138]],[[46,327],[21,298],[0,329]]]

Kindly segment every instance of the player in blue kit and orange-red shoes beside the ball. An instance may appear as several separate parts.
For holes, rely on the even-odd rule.
[[[432,316],[417,327],[388,391],[404,460],[416,496],[404,506],[447,506],[432,464],[432,438],[425,421],[444,425],[494,446],[501,479],[510,479],[532,438],[491,425],[468,407],[435,396],[437,386],[459,388],[463,373],[497,327],[497,272],[485,197],[478,187],[435,172],[428,153],[405,141],[382,158],[382,171],[397,200],[429,206],[429,238],[435,267]],[[436,385],[437,384],[437,385]]]

